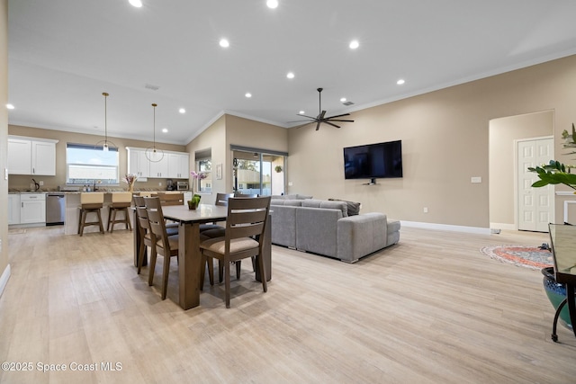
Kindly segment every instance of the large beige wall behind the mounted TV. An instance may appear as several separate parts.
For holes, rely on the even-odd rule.
[[[356,122],[341,129],[289,129],[288,192],[360,201],[363,212],[395,219],[489,228],[490,121],[554,110],[560,137],[576,121],[575,84],[572,56],[353,112]],[[374,186],[344,180],[342,147],[396,139],[402,140],[403,178]],[[555,146],[560,154],[558,140]],[[473,176],[482,183],[471,183]],[[562,219],[558,202],[556,218]]]

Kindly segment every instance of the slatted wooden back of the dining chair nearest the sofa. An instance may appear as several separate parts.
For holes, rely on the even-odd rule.
[[[269,210],[270,196],[230,198],[226,219],[226,241],[263,235]]]

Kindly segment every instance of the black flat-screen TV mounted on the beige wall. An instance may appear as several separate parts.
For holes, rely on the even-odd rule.
[[[346,179],[376,179],[402,177],[402,141],[367,144],[344,148]]]

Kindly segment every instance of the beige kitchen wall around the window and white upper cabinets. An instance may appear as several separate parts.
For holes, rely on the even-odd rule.
[[[44,186],[42,189],[49,191],[58,188],[58,185],[66,184],[66,144],[67,142],[76,144],[95,144],[102,140],[102,136],[85,135],[82,133],[66,132],[62,130],[53,129],[38,129],[30,127],[22,127],[10,125],[8,127],[10,135],[27,136],[31,138],[53,138],[58,140],[56,145],[56,176],[38,176],[34,177],[37,182],[43,181]],[[151,142],[132,140],[129,138],[108,138],[116,147],[119,148],[119,161],[120,161],[120,176],[123,177],[127,173],[128,157],[126,147],[150,147]],[[173,144],[157,144],[157,148],[163,150],[184,152],[185,147],[176,146]],[[9,188],[11,189],[27,189],[30,188],[31,175],[11,174],[9,177]],[[158,185],[162,183],[162,185]],[[126,187],[125,183],[121,183],[120,187]],[[135,184],[135,189],[146,188],[159,188],[166,189],[166,179],[148,179],[148,182],[138,182]]]

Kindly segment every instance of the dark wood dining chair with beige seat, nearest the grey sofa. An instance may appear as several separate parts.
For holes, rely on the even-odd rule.
[[[230,198],[224,237],[202,241],[202,255],[218,259],[224,265],[226,308],[230,308],[230,263],[247,257],[257,257],[262,272],[262,289],[266,285],[263,246],[264,233],[270,210],[270,196],[257,198]]]

